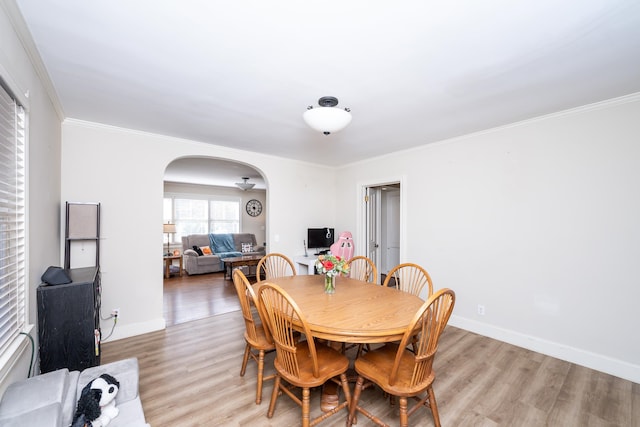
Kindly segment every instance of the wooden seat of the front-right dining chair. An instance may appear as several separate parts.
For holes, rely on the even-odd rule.
[[[381,348],[371,350],[356,359],[355,369],[362,377],[375,382],[385,392],[394,396],[413,396],[420,390],[424,390],[435,379],[434,371],[425,380],[417,385],[411,385],[415,354],[405,350],[402,354],[398,378],[396,382],[389,384],[389,372],[393,368],[393,362],[398,352],[398,344],[389,343]]]

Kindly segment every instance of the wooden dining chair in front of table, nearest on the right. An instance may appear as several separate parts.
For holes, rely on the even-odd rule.
[[[356,359],[354,368],[358,373],[358,379],[347,425],[353,425],[356,411],[378,425],[387,425],[358,405],[362,389],[369,385],[365,384],[366,379],[377,384],[386,393],[399,397],[401,427],[407,427],[409,416],[418,408],[427,405],[431,408],[436,427],[440,426],[438,405],[433,391],[433,360],[438,349],[438,339],[449,321],[454,304],[455,293],[451,289],[439,290],[418,309],[400,344],[385,344],[384,347],[371,350]],[[418,340],[415,351],[411,351],[407,345],[416,336]],[[418,400],[411,409],[408,409],[408,397]]]

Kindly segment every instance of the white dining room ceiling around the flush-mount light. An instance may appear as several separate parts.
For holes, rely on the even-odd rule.
[[[640,92],[637,0],[15,1],[66,117],[319,164]]]

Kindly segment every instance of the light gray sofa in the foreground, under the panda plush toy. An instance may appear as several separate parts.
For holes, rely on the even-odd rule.
[[[124,359],[82,372],[59,369],[15,382],[0,401],[0,426],[68,427],[82,389],[102,374],[120,382],[118,415],[109,427],[149,427],[138,395],[138,359]]]

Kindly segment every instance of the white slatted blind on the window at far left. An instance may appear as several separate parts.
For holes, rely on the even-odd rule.
[[[25,112],[0,84],[0,356],[26,321],[25,227]]]

